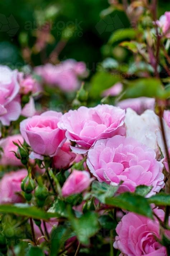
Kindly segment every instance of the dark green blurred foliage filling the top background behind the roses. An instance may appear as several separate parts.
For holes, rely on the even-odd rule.
[[[170,9],[170,2],[159,3],[158,16]],[[110,18],[113,21],[110,22]],[[115,19],[115,20],[114,20]],[[35,43],[39,29],[49,22],[51,34],[45,35],[45,50],[38,52]],[[106,25],[107,24],[107,25]],[[105,44],[110,34],[118,28],[129,27],[126,14],[121,10],[109,9],[107,0],[6,0],[0,2],[0,63],[14,68],[29,63],[27,52],[32,49],[32,66],[42,64],[60,40],[67,41],[59,59],[74,58],[85,61],[92,73],[104,57],[128,58],[128,51],[116,48],[110,52]],[[47,31],[47,30],[46,30]],[[44,36],[44,35],[42,35]],[[25,57],[26,56],[26,57]],[[123,59],[124,60],[124,59]]]

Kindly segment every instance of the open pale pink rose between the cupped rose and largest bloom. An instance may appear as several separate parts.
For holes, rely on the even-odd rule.
[[[76,153],[85,153],[100,138],[124,135],[125,111],[110,105],[96,107],[81,106],[65,113],[58,126],[66,130],[66,137],[75,141],[78,147],[71,147]]]

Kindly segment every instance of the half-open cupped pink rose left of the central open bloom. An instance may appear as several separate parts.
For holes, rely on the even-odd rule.
[[[57,149],[65,142],[65,132],[58,128],[61,116],[61,112],[46,111],[20,123],[20,132],[34,151],[35,158],[56,155]]]

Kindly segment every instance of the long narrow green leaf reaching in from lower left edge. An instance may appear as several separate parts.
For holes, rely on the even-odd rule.
[[[44,212],[41,209],[36,208],[35,206],[29,206],[28,204],[24,203],[1,204],[0,212],[32,217],[33,219],[38,220],[48,220],[52,217],[60,217],[58,213]]]

